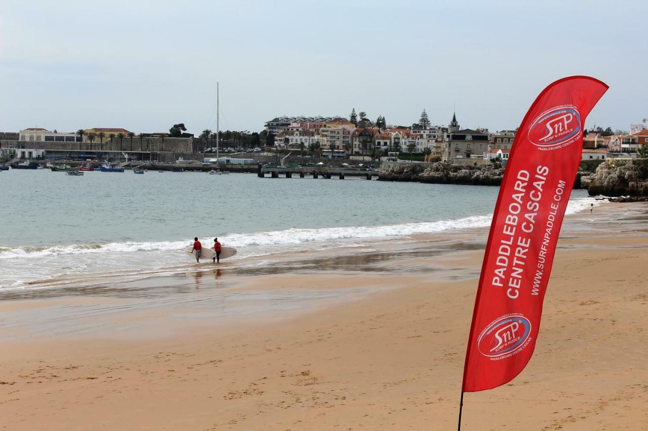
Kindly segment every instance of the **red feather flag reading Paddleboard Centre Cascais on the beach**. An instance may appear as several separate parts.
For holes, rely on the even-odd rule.
[[[607,89],[588,76],[558,80],[520,124],[481,267],[462,393],[511,381],[533,355],[585,118]]]

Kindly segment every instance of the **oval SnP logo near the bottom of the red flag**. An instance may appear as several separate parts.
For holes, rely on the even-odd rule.
[[[505,315],[493,320],[477,339],[480,353],[496,358],[514,352],[531,337],[531,322],[522,315]]]

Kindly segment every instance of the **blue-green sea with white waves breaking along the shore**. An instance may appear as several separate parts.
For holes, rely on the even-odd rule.
[[[194,172],[0,173],[0,289],[133,280],[187,269],[198,236],[251,256],[488,226],[498,188]],[[595,202],[574,190],[568,212]]]

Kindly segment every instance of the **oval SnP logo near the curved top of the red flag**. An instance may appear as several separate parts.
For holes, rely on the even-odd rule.
[[[544,111],[529,127],[529,140],[539,147],[557,146],[581,132],[581,115],[573,106]]]

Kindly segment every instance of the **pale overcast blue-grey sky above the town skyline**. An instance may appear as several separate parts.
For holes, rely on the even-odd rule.
[[[647,1],[1,0],[0,131],[260,131],[351,108],[519,126],[549,83],[610,89],[586,127],[648,117]]]

